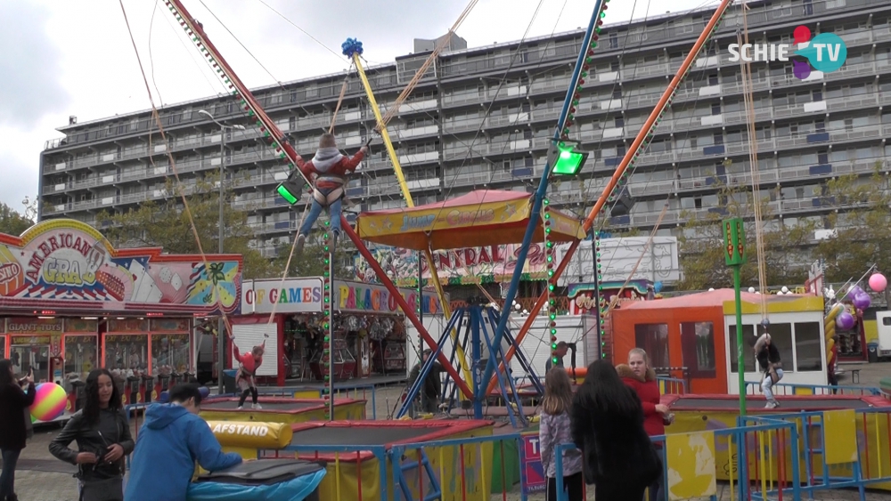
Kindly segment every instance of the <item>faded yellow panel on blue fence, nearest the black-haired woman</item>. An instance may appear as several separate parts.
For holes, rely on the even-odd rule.
[[[715,432],[668,434],[666,451],[668,499],[715,495]]]

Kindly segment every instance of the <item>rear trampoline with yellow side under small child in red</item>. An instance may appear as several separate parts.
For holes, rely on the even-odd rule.
[[[322,421],[327,400],[290,399],[285,397],[260,397],[262,408],[250,408],[250,400],[238,409],[238,398],[227,397],[201,403],[200,416],[208,421],[267,421],[272,423],[306,423]],[[364,419],[365,400],[334,399],[335,419]]]

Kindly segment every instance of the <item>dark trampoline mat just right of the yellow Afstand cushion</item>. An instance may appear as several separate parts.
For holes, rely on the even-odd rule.
[[[319,426],[294,432],[291,445],[385,445],[396,441],[412,440],[433,432],[441,426],[348,426],[326,428]]]

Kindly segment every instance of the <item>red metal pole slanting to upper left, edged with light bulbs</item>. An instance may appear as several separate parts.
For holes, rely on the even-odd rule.
[[[297,151],[290,146],[288,141],[285,141],[286,138],[284,137],[282,130],[275,125],[268,115],[266,115],[266,111],[260,107],[253,94],[250,93],[248,87],[241,82],[241,79],[237,75],[235,75],[232,67],[229,66],[229,63],[227,63],[219,51],[217,51],[217,47],[210,42],[207,34],[204,33],[204,28],[198,24],[197,20],[192,18],[192,15],[185,9],[180,0],[166,0],[165,5],[167,5],[170,12],[173,12],[180,26],[185,29],[186,34],[192,37],[192,42],[198,46],[201,53],[217,71],[217,75],[223,79],[224,84],[228,85],[233,96],[241,97],[243,100],[241,108],[248,113],[249,117],[256,117],[257,121],[260,122],[257,124],[260,127],[260,133],[263,133],[264,136],[271,141],[271,146],[275,149],[275,152],[282,158],[282,160],[286,159],[290,162],[290,168],[297,168]],[[300,171],[298,170],[298,172]],[[300,172],[300,175],[303,177],[307,185],[309,185],[310,182],[307,180],[306,176],[303,175],[302,172]],[[374,256],[368,252],[368,249],[365,248],[362,240],[356,235],[356,231],[353,230],[349,225],[349,222],[347,222],[347,218],[342,214],[340,215],[340,224],[343,232],[347,234],[347,237],[349,237],[353,244],[356,245],[356,248],[358,248],[359,254],[365,258],[365,261],[371,264],[372,269],[377,273],[383,286],[387,287],[390,295],[396,298],[396,303],[402,308],[402,311],[405,313],[405,318],[412,322],[413,326],[418,329],[418,332],[430,349],[435,351],[437,349],[437,341],[429,335],[427,329],[424,328],[424,325],[421,323],[421,320],[414,314],[414,306],[409,305],[405,301],[405,298],[399,293],[399,289],[396,288],[393,281],[389,279],[387,273],[380,268],[380,264],[378,264],[377,260],[374,259]],[[448,372],[449,376],[452,376],[452,379],[454,379],[455,384],[457,384],[458,388],[464,393],[464,396],[472,399],[473,392],[470,391],[470,387],[462,380],[458,372],[454,370],[454,367],[452,367],[452,364],[449,362],[448,358],[446,358],[446,355],[440,352],[437,359],[443,367],[446,368],[446,372]]]

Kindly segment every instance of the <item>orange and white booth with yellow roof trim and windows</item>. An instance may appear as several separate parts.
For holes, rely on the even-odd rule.
[[[762,296],[741,293],[746,381],[759,381],[753,347],[764,332]],[[813,295],[765,295],[768,332],[783,361],[783,383],[826,384],[823,299]],[[650,355],[657,372],[688,382],[687,392],[740,392],[736,306],[732,289],[658,301],[622,303],[611,312],[614,362],[633,348]]]

